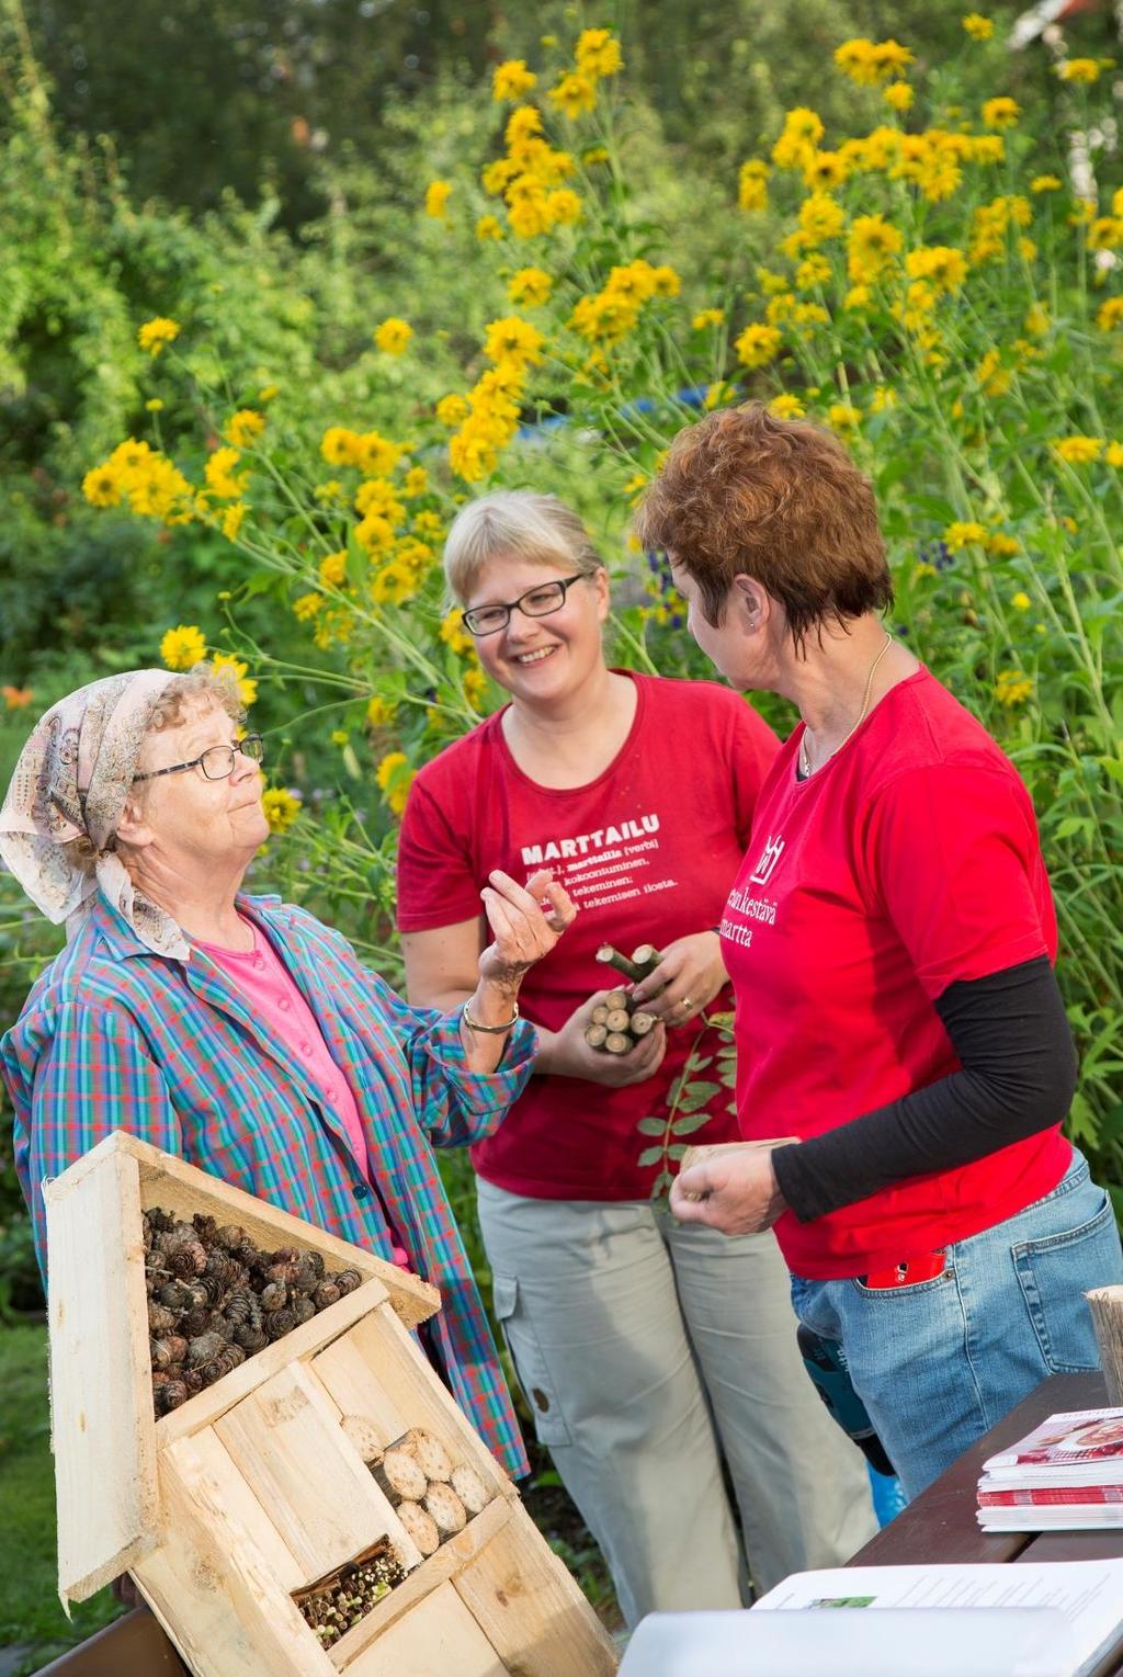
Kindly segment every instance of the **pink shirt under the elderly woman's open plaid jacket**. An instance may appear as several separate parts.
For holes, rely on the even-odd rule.
[[[303,1065],[308,1080],[315,1083],[325,1107],[342,1124],[347,1145],[362,1166],[362,1174],[370,1181],[367,1139],[362,1132],[362,1119],[359,1117],[355,1097],[350,1092],[347,1078],[332,1060],[329,1046],[323,1041],[323,1031],[317,1025],[312,1008],[303,999],[300,988],[270,941],[261,937],[256,926],[250,921],[241,919],[241,924],[253,934],[253,949],[221,949],[218,944],[203,942],[199,937],[196,937],[196,944],[241,989],[263,1028],[280,1038],[293,1060]],[[377,1182],[370,1182],[370,1186],[377,1192]],[[394,1263],[407,1269],[409,1254],[392,1229],[391,1239],[394,1243]]]

